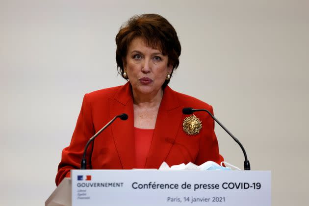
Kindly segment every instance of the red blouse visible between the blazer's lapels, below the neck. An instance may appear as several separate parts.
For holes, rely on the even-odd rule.
[[[135,167],[145,168],[146,159],[153,140],[154,129],[140,129],[134,127],[134,144],[135,144]]]

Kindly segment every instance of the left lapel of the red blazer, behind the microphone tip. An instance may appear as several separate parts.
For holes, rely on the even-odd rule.
[[[109,99],[110,118],[121,113],[128,114],[126,121],[117,119],[112,125],[112,136],[114,138],[117,153],[123,169],[132,169],[135,165],[134,160],[134,113],[132,89],[127,82],[120,87],[114,98]]]

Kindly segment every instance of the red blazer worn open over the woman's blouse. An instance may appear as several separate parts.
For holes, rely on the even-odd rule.
[[[145,168],[158,168],[163,161],[170,166],[188,162],[200,165],[208,160],[217,163],[223,161],[214,133],[214,121],[206,112],[197,112],[195,115],[202,121],[203,128],[199,134],[188,135],[182,128],[184,118],[189,116],[182,114],[183,107],[205,108],[213,112],[207,103],[175,92],[167,86],[159,107]],[[71,169],[79,169],[88,139],[121,113],[127,113],[128,120],[117,119],[94,140],[93,145],[90,144],[87,168],[134,168],[133,99],[128,82],[123,86],[84,96],[70,146],[62,151],[56,176],[57,185],[64,177],[70,177]]]

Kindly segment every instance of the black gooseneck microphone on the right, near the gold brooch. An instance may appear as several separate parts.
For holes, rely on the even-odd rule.
[[[193,114],[193,112],[196,112],[196,111],[206,111],[211,117],[212,119],[214,119],[214,121],[216,121],[220,126],[221,128],[223,128],[233,139],[235,142],[237,142],[237,144],[240,146],[242,152],[244,153],[244,156],[245,156],[245,161],[244,161],[244,169],[245,170],[250,170],[250,162],[247,158],[247,153],[244,149],[244,147],[242,146],[242,144],[239,142],[239,140],[228,130],[226,129],[226,127],[224,127],[221,122],[219,122],[219,120],[217,120],[217,118],[215,118],[210,111],[208,111],[207,109],[193,109],[192,107],[185,107],[182,109],[182,113],[183,114]]]

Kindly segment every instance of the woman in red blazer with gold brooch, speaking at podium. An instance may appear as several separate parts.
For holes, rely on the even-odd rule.
[[[116,44],[119,73],[129,81],[84,96],[70,146],[62,152],[56,184],[80,167],[88,139],[121,113],[129,119],[115,121],[88,148],[88,169],[223,161],[211,117],[181,112],[188,106],[212,112],[212,107],[167,86],[181,52],[174,27],[157,14],[134,16],[121,27]]]

